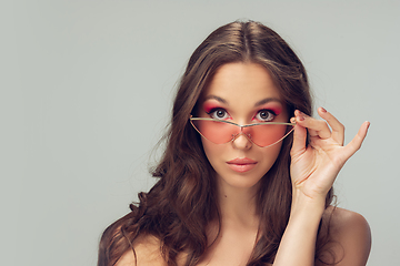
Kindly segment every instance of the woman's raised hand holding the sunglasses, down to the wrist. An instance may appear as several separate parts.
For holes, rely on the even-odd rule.
[[[324,109],[319,108],[318,113],[324,121],[294,112],[290,172],[294,191],[309,198],[324,200],[341,167],[361,147],[370,123],[364,122],[353,140],[343,146],[344,126]]]

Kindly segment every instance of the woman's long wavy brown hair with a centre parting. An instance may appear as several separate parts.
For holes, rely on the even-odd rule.
[[[312,102],[306,70],[290,47],[271,29],[253,21],[237,21],[213,31],[193,52],[176,95],[167,149],[152,171],[157,184],[139,193],[131,213],[110,225],[100,242],[98,266],[114,265],[142,234],[161,242],[168,265],[177,265],[178,254],[188,254],[186,265],[196,265],[208,248],[206,229],[220,222],[214,172],[208,162],[199,134],[189,123],[201,92],[219,66],[230,62],[251,62],[268,70],[288,108],[311,115]],[[291,206],[290,149],[292,135],[258,192],[259,241],[248,265],[273,263],[289,221]],[[332,191],[327,195],[327,206]],[[220,223],[219,223],[220,224]],[[319,256],[326,238],[317,242]],[[134,250],[133,250],[134,252]]]

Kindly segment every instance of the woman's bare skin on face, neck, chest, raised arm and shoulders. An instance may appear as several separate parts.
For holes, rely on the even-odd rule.
[[[258,64],[222,65],[199,101],[201,104],[216,101],[213,96],[224,101],[221,108],[228,111],[229,116],[223,119],[239,124],[253,122],[254,113],[259,111],[254,104],[263,99],[276,99],[274,103],[282,105],[282,112],[274,116],[274,121],[288,122],[290,119],[271,76]],[[218,104],[221,105],[221,102]],[[208,112],[202,109],[198,114],[208,117]],[[329,248],[341,259],[337,265],[362,266],[367,263],[371,245],[368,223],[361,215],[347,209],[324,209],[324,198],[343,164],[360,149],[369,122],[364,122],[354,139],[343,145],[343,125],[324,109],[318,109],[318,113],[322,120],[294,112],[297,124],[292,133],[294,135],[290,167],[293,184],[292,208],[273,265],[322,265],[314,262],[317,232],[321,217],[322,223],[327,223],[327,217],[331,217],[333,244],[330,244]],[[309,146],[306,146],[307,129],[310,134]],[[239,135],[226,144],[214,144],[204,139],[202,143],[217,173],[222,224],[218,239],[198,265],[246,265],[259,225],[254,193],[260,178],[276,161],[281,143],[259,147],[244,135]],[[252,158],[258,162],[257,166],[246,173],[237,173],[227,166],[227,161],[237,157]],[[209,236],[213,239],[216,227],[212,224],[209,227]],[[160,243],[154,237],[139,238],[134,243],[137,265],[166,265],[159,248]],[[179,264],[182,265],[183,262],[184,254]],[[133,253],[128,252],[117,265],[136,265]]]

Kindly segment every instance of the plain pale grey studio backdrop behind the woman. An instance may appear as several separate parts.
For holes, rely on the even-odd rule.
[[[173,89],[196,47],[261,21],[302,59],[316,105],[371,122],[336,187],[372,229],[368,265],[398,265],[400,1],[0,3],[1,265],[96,265],[159,154]]]

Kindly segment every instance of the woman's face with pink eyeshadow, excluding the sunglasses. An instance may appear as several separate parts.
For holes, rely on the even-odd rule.
[[[199,117],[227,120],[237,124],[267,121],[288,122],[287,108],[269,72],[256,63],[228,63],[216,72],[199,99]],[[252,188],[271,168],[282,142],[260,147],[243,134],[224,144],[201,137],[218,183]]]

